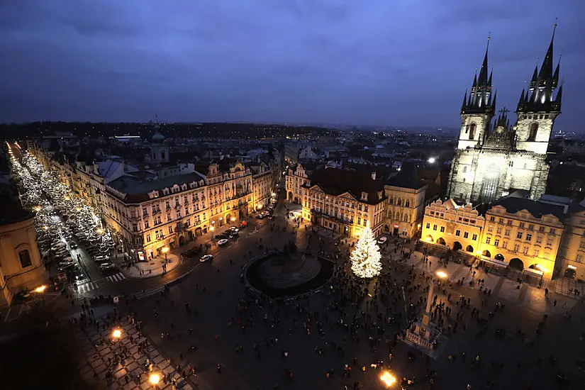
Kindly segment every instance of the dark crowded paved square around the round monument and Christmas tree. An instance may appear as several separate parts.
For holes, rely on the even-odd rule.
[[[372,296],[352,301],[342,312],[335,310],[338,296],[330,287],[308,299],[286,303],[244,299],[242,266],[267,246],[282,248],[295,240],[301,250],[321,250],[333,257],[339,253],[340,265],[347,258],[348,247],[335,243],[336,235],[313,233],[304,225],[295,234],[291,220],[282,217],[273,223],[272,229],[267,226],[230,243],[213,263],[197,267],[167,291],[130,303],[137,320],[143,321],[145,335],[165,356],[174,364],[196,368],[197,376],[191,380],[199,389],[383,389],[382,367],[396,377],[414,378],[414,389],[429,388],[430,370],[437,372],[433,389],[466,389],[467,384],[484,389],[489,381],[494,381],[493,389],[562,389],[557,374],[571,379],[573,388],[585,380],[576,364],[585,318],[581,301],[554,291],[545,297],[544,287],[521,284],[517,288],[516,281],[481,269],[473,269],[473,277],[463,264],[450,262],[445,267],[433,256],[424,262],[418,252],[399,261],[393,240],[385,248],[384,272],[396,287],[381,291],[372,284],[368,287]],[[406,251],[413,246],[406,245]],[[450,281],[444,291],[438,291],[440,301],[451,295],[447,305],[452,313],[445,317],[445,328],[454,328],[456,322],[459,327],[440,345],[436,360],[427,360],[408,345],[395,342],[406,326],[398,291],[404,284],[406,303],[418,310],[419,297],[426,296],[417,287],[424,282],[420,274],[438,270],[447,273]],[[457,284],[463,277],[465,282]],[[472,277],[475,282],[469,286]],[[480,279],[484,279],[481,284]],[[484,294],[486,289],[491,295]],[[469,307],[455,305],[461,296],[469,299]],[[494,313],[498,302],[505,309]],[[472,316],[472,308],[477,308],[477,315]],[[485,319],[486,327],[478,319]],[[360,324],[355,334],[348,332],[348,323]],[[502,331],[496,335],[498,328]],[[472,365],[477,355],[479,364]],[[350,378],[343,375],[345,364],[352,368]],[[293,372],[292,379],[285,370]]]

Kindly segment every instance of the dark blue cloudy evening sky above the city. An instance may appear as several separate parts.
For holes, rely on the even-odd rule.
[[[459,126],[491,32],[513,110],[555,17],[562,116],[581,130],[579,0],[4,0],[0,121]]]

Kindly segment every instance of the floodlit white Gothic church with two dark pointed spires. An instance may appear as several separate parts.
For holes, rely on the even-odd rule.
[[[530,87],[520,94],[518,119],[511,126],[506,108],[493,121],[496,91],[492,91],[491,72],[488,73],[488,39],[479,75],[476,72],[469,95],[467,91],[464,94],[461,132],[447,196],[457,201],[489,204],[514,190],[524,190],[531,199],[545,193],[549,172],[547,147],[552,124],[561,113],[562,97],[559,63],[556,68],[553,64],[554,40],[553,30],[540,71],[536,65]]]

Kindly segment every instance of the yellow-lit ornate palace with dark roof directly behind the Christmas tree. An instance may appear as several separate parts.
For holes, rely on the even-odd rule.
[[[369,226],[382,233],[386,194],[375,174],[346,169],[317,169],[302,186],[302,216],[313,225],[350,238]]]

